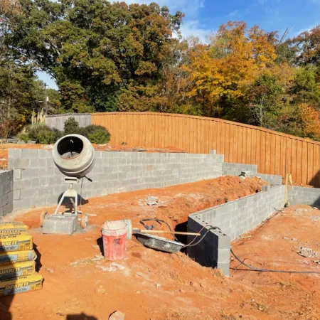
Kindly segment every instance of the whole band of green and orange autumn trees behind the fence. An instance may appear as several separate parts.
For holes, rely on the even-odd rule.
[[[156,3],[4,0],[0,10],[0,102],[18,106],[12,121],[39,107],[44,70],[59,87],[54,112],[196,114],[320,139],[320,26],[279,40],[229,21],[203,43],[182,37],[183,13]]]

